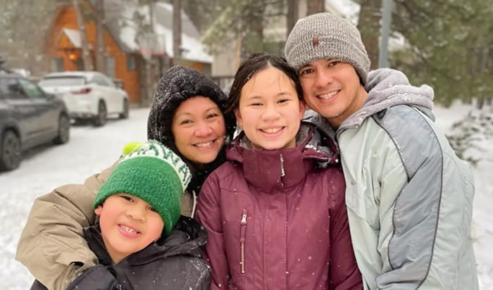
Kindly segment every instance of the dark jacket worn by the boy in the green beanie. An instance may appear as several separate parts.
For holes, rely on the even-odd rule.
[[[77,277],[68,290],[110,289],[210,289],[211,274],[201,259],[206,230],[199,222],[181,216],[164,240],[153,243],[113,265],[106,252],[98,225],[86,227],[84,235],[99,265]],[[31,290],[46,289],[35,281]]]

